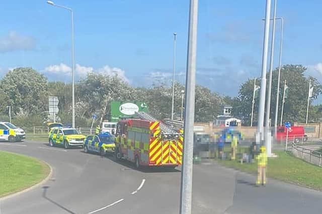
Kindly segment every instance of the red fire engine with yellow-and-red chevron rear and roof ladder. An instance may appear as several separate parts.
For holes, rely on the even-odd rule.
[[[115,158],[140,166],[175,168],[182,163],[183,131],[173,130],[145,112],[118,122]]]

